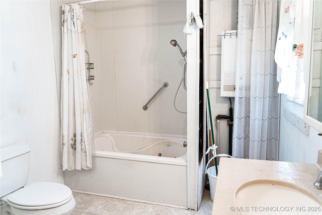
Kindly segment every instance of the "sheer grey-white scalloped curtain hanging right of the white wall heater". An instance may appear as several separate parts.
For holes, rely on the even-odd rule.
[[[232,156],[277,160],[278,0],[239,0]]]

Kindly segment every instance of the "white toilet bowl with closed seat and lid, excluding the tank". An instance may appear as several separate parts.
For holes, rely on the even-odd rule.
[[[63,184],[53,182],[32,183],[10,193],[2,200],[10,205],[15,215],[71,214],[75,207],[71,190]],[[8,206],[6,208],[8,210]],[[10,211],[8,213],[10,214]]]

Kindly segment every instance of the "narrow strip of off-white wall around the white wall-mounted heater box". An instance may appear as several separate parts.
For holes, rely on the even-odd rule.
[[[214,125],[215,144],[217,133],[215,130],[218,114],[229,116],[229,100],[227,97],[220,97],[220,75],[221,75],[221,32],[224,30],[237,30],[236,0],[211,0],[210,1],[210,56],[209,56],[209,96],[211,114]],[[234,108],[234,98],[231,99]],[[228,154],[229,126],[227,120],[220,120],[219,125],[219,152]]]

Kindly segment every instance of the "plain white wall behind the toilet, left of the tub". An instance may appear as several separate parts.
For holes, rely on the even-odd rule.
[[[1,1],[1,147],[31,148],[28,184],[63,182],[49,1]]]

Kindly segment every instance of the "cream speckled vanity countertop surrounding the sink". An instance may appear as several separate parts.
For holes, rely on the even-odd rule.
[[[274,180],[293,184],[295,188],[306,190],[311,197],[322,204],[322,190],[313,186],[321,172],[321,164],[321,150],[317,164],[220,158],[212,214],[243,214],[237,211],[234,192],[239,185],[254,180]]]

